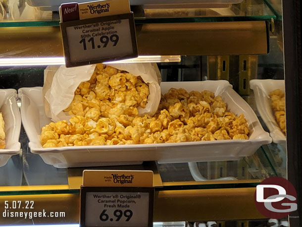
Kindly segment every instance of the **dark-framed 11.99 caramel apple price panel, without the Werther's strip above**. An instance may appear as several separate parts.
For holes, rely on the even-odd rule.
[[[66,67],[138,57],[133,13],[60,23]]]

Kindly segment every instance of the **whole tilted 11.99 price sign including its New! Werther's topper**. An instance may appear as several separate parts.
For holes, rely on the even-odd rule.
[[[138,56],[133,13],[110,15],[114,10],[119,12],[120,7],[113,4],[115,1],[106,2],[61,5],[66,67]],[[101,16],[103,14],[108,16]]]

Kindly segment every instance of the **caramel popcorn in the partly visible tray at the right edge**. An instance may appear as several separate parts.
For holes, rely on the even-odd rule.
[[[271,105],[281,131],[286,135],[285,94],[280,89],[269,93]]]

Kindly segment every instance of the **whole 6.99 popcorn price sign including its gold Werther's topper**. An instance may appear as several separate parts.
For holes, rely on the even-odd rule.
[[[152,227],[152,182],[151,171],[84,170],[80,226]]]

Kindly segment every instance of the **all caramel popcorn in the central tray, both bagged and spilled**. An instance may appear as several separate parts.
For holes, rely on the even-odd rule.
[[[244,115],[228,112],[222,97],[210,91],[188,93],[171,88],[161,96],[153,117],[138,116],[137,107],[143,107],[149,95],[148,86],[139,77],[101,64],[94,75],[96,79],[91,80],[108,81],[108,86],[114,86],[109,100],[101,100],[100,94],[85,90],[88,84],[83,84],[77,92],[85,95],[76,95],[72,105],[81,104],[84,114],[80,109],[69,122],[51,122],[43,127],[43,147],[249,139]],[[74,111],[72,108],[69,111]],[[276,117],[284,116],[282,111],[275,113]]]

